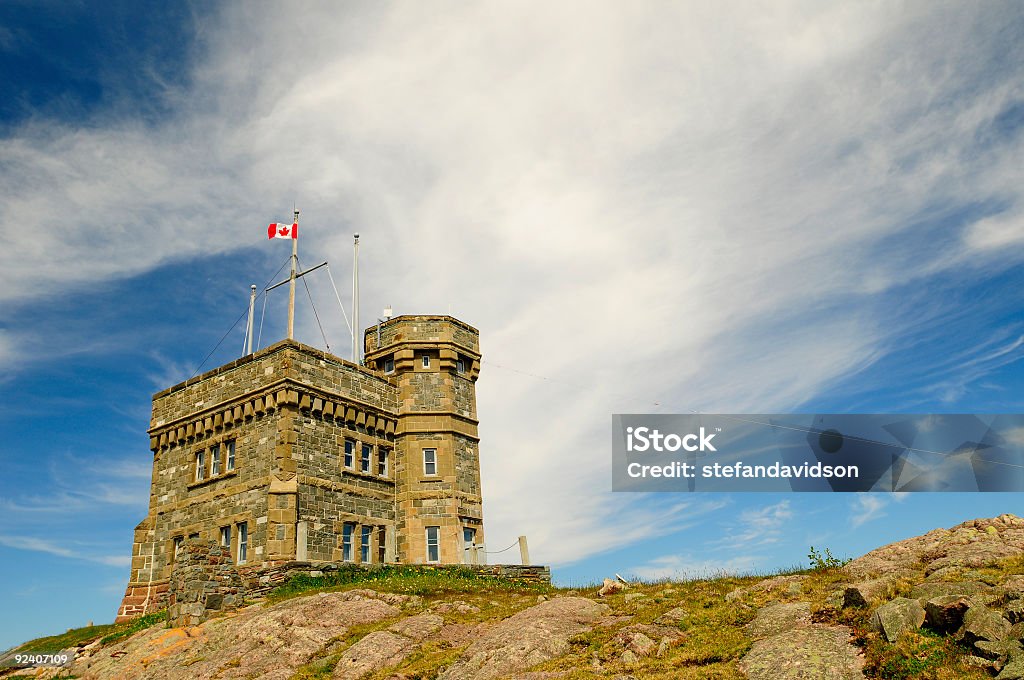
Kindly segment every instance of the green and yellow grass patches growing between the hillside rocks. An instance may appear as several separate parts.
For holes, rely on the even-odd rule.
[[[690,581],[656,581],[631,584],[624,592],[600,598],[610,607],[609,626],[597,626],[569,640],[561,656],[530,670],[565,673],[569,680],[632,675],[653,680],[739,680],[737,665],[754,640],[745,635],[743,626],[750,623],[758,608],[772,601],[808,602],[812,621],[820,624],[844,625],[851,629],[854,640],[864,651],[865,676],[886,680],[981,680],[990,677],[985,671],[967,663],[970,651],[955,643],[951,636],[927,629],[904,634],[889,643],[874,632],[870,623],[871,607],[846,608],[837,606],[836,593],[847,581],[839,560],[824,551],[811,568],[794,567],[772,573],[748,576],[717,575],[715,578]],[[813,561],[813,560],[812,560]],[[1024,557],[1017,557],[983,568],[965,568],[963,579],[1000,584],[1013,576],[1024,575]],[[802,577],[800,587],[790,579],[780,579],[771,590],[759,586],[772,577]],[[923,579],[923,576],[921,576]],[[888,597],[906,595],[915,579],[894,582]],[[443,611],[446,624],[466,626],[494,624],[534,606],[539,596],[580,595],[596,597],[597,585],[556,588],[547,584],[526,584],[481,576],[460,567],[431,570],[385,566],[375,570],[345,569],[322,577],[296,577],[274,590],[267,603],[324,591],[371,588],[380,592],[409,595],[401,617],[431,609],[438,602],[461,601],[461,608]],[[726,595],[730,595],[726,600]],[[635,597],[641,595],[642,597]],[[664,614],[676,610],[675,623]],[[26,643],[18,651],[52,652],[83,642],[100,639],[103,644],[123,639],[132,633],[159,624],[165,612],[111,626],[94,626],[69,631],[62,635],[41,638]],[[352,644],[367,634],[384,630],[397,618],[366,626],[356,626],[344,636],[325,644],[321,654],[297,670],[295,680],[326,680]],[[678,631],[678,641],[668,645],[658,656],[640,656],[634,664],[623,662],[622,633],[627,627],[671,626]],[[654,629],[656,630],[656,629]],[[653,633],[652,633],[653,634]],[[660,644],[660,639],[655,639]],[[463,653],[470,638],[460,641],[435,639],[427,641],[397,667],[381,669],[369,680],[383,680],[400,674],[407,678],[432,680]],[[227,666],[231,666],[229,663]],[[238,661],[233,662],[238,665]]]

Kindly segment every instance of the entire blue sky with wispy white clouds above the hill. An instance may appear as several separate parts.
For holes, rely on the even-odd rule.
[[[346,305],[361,235],[365,323],[480,330],[487,549],[525,535],[557,584],[1024,514],[612,493],[609,437],[615,413],[1022,413],[1019,3],[14,0],[0,85],[0,648],[113,620],[152,395],[241,354],[296,205]],[[347,358],[307,279],[297,339]]]

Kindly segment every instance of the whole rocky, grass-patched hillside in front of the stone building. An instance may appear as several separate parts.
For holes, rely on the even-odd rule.
[[[1024,519],[769,579],[341,587],[82,641],[78,678],[1024,678]],[[366,586],[372,587],[366,587]]]

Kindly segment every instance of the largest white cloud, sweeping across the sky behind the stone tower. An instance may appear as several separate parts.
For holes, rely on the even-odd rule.
[[[0,299],[256,244],[298,200],[303,252],[345,263],[362,232],[365,312],[451,304],[485,359],[545,377],[484,365],[488,544],[559,561],[656,534],[605,493],[611,413],[793,409],[923,321],[876,296],[1020,259],[964,257],[936,208],[1021,198],[1020,137],[977,150],[1020,96],[987,68],[996,8],[300,14],[211,19],[169,121],[0,140]],[[1009,238],[986,219],[969,245]]]

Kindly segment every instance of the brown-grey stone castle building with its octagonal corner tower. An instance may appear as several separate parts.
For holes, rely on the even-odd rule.
[[[119,620],[166,605],[189,539],[250,571],[472,561],[479,334],[407,315],[364,340],[366,366],[285,340],[154,395],[150,512]]]

